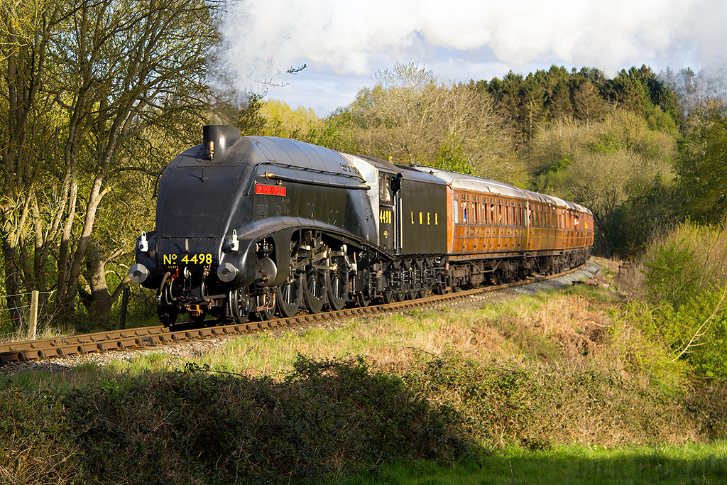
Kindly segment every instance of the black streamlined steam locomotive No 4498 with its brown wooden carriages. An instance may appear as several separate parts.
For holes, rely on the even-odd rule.
[[[579,204],[236,127],[202,135],[160,172],[156,228],[129,268],[156,289],[164,326],[414,299],[590,257],[593,214]]]

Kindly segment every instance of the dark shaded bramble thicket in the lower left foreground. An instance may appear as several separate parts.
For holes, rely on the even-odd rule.
[[[301,356],[283,382],[195,365],[117,378],[42,403],[1,389],[0,476],[23,484],[289,482],[470,453],[451,409],[362,358]]]

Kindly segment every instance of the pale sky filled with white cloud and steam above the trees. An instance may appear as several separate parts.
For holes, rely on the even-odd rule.
[[[235,0],[222,34],[237,89],[326,116],[395,63],[465,82],[551,65],[716,70],[727,1]]]

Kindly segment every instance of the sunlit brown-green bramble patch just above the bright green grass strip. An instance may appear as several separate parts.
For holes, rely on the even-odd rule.
[[[486,446],[540,450],[696,438],[696,424],[678,399],[641,389],[616,372],[492,364],[449,353],[423,361],[406,380],[430,401],[454,409],[467,433]]]

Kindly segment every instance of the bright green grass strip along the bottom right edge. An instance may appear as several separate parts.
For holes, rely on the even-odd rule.
[[[622,485],[727,483],[727,442],[704,446],[605,449],[561,446],[549,452],[508,449],[462,462],[396,462],[369,476],[336,477],[328,484],[406,485]]]

